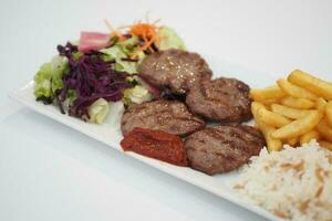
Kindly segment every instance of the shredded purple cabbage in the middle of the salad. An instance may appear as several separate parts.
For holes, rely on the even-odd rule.
[[[80,54],[77,46],[68,43],[58,45],[60,55],[69,60],[69,74],[63,76],[62,90],[59,90],[56,99],[64,114],[63,103],[68,98],[69,90],[75,90],[76,98],[69,107],[71,116],[82,119],[90,118],[87,107],[96,99],[104,98],[117,102],[123,97],[123,91],[129,86],[125,81],[128,73],[113,69],[114,61],[104,61],[100,52]]]

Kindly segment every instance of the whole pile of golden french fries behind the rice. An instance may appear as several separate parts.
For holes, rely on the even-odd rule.
[[[269,151],[311,139],[332,150],[332,83],[295,70],[274,86],[251,90],[250,97]]]

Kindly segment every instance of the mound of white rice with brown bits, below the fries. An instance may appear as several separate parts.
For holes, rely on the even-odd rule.
[[[234,188],[287,220],[332,220],[332,151],[317,141],[262,149],[240,171]]]

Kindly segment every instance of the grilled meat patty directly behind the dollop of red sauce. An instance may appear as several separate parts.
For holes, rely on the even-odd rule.
[[[135,127],[164,130],[173,135],[188,135],[205,126],[205,122],[191,114],[177,101],[154,101],[133,106],[121,119],[123,135]]]

